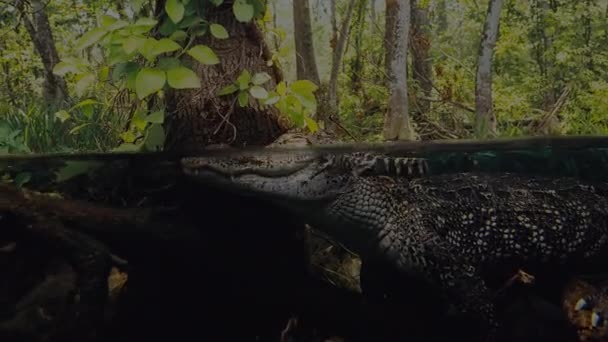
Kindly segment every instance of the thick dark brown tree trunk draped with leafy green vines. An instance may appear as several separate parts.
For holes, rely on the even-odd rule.
[[[265,85],[274,89],[282,81],[276,66],[267,66],[270,51],[254,22],[238,22],[232,12],[233,1],[209,8],[209,22],[219,23],[228,31],[228,39],[204,35],[194,44],[209,46],[219,57],[216,65],[202,65],[189,58],[201,79],[200,89],[177,90],[167,94],[166,149],[193,152],[211,144],[231,146],[267,145],[284,133],[289,124],[276,108],[250,102],[239,107],[236,95],[217,96],[234,82],[243,70],[251,74],[267,72],[272,80]],[[157,8],[164,8],[159,0]]]

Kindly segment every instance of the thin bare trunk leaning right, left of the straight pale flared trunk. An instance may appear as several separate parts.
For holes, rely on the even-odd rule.
[[[333,52],[331,55],[331,72],[329,76],[329,84],[327,89],[328,107],[324,110],[323,119],[325,119],[325,127],[329,131],[335,131],[339,119],[339,103],[338,103],[338,74],[342,64],[342,56],[346,46],[346,38],[348,37],[348,26],[355,8],[356,0],[350,0],[348,8],[344,14],[344,18],[340,23],[339,31],[334,30],[332,37]],[[335,3],[332,6],[335,11]],[[335,12],[334,12],[335,18]],[[332,19],[333,26],[336,27],[335,19]],[[337,27],[336,27],[337,28]]]

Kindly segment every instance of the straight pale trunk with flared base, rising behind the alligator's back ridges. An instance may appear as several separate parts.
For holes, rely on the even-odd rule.
[[[384,139],[414,140],[408,113],[407,50],[411,16],[409,0],[386,0],[386,67],[389,101],[384,118]]]

